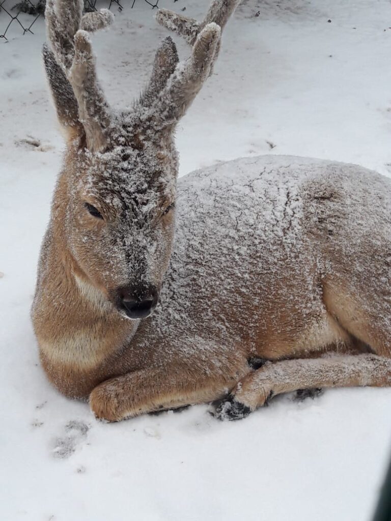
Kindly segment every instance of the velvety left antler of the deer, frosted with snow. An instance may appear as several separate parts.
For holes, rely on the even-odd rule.
[[[87,148],[98,152],[107,141],[104,130],[110,110],[96,79],[89,32],[107,27],[114,17],[108,9],[82,16],[81,0],[47,0],[46,29],[56,63],[69,81],[78,105]]]

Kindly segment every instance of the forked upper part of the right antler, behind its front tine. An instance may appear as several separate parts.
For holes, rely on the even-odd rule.
[[[241,0],[214,0],[202,22],[178,15],[169,9],[158,10],[156,20],[166,29],[183,36],[190,45],[193,45],[207,24],[214,22],[223,30],[240,2]]]

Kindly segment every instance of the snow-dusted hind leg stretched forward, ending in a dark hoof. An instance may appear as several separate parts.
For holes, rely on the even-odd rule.
[[[267,362],[216,404],[216,417],[244,418],[271,396],[298,389],[355,386],[391,386],[391,358],[364,354]]]

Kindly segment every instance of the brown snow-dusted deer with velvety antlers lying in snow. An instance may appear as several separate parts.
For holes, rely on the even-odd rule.
[[[236,419],[272,394],[388,386],[390,181],[264,156],[177,183],[174,130],[238,0],[215,1],[200,24],[160,13],[191,56],[178,64],[164,40],[144,93],[119,113],[87,32],[111,15],[82,16],[81,4],[46,8],[44,61],[67,150],[32,318],[54,385],[108,420],[218,399],[216,415]]]

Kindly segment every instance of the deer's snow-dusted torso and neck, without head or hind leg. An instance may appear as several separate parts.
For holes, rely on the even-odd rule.
[[[322,160],[243,158],[180,178],[176,219],[160,304],[149,318],[118,317],[100,290],[72,272],[66,284],[72,300],[56,289],[59,315],[49,305],[40,317],[45,336],[53,325],[52,338],[41,340],[36,331],[60,391],[88,398],[101,382],[132,374],[132,392],[121,391],[131,406],[95,411],[119,419],[221,398],[252,373],[252,357],[362,353],[364,344],[389,356],[388,179]],[[48,236],[58,231],[50,228]],[[45,254],[59,259],[50,238]],[[38,300],[52,280],[41,277]],[[349,306],[352,299],[353,313],[341,320],[340,301]],[[365,325],[369,314],[379,330],[374,338]],[[373,357],[356,358],[365,356]]]

